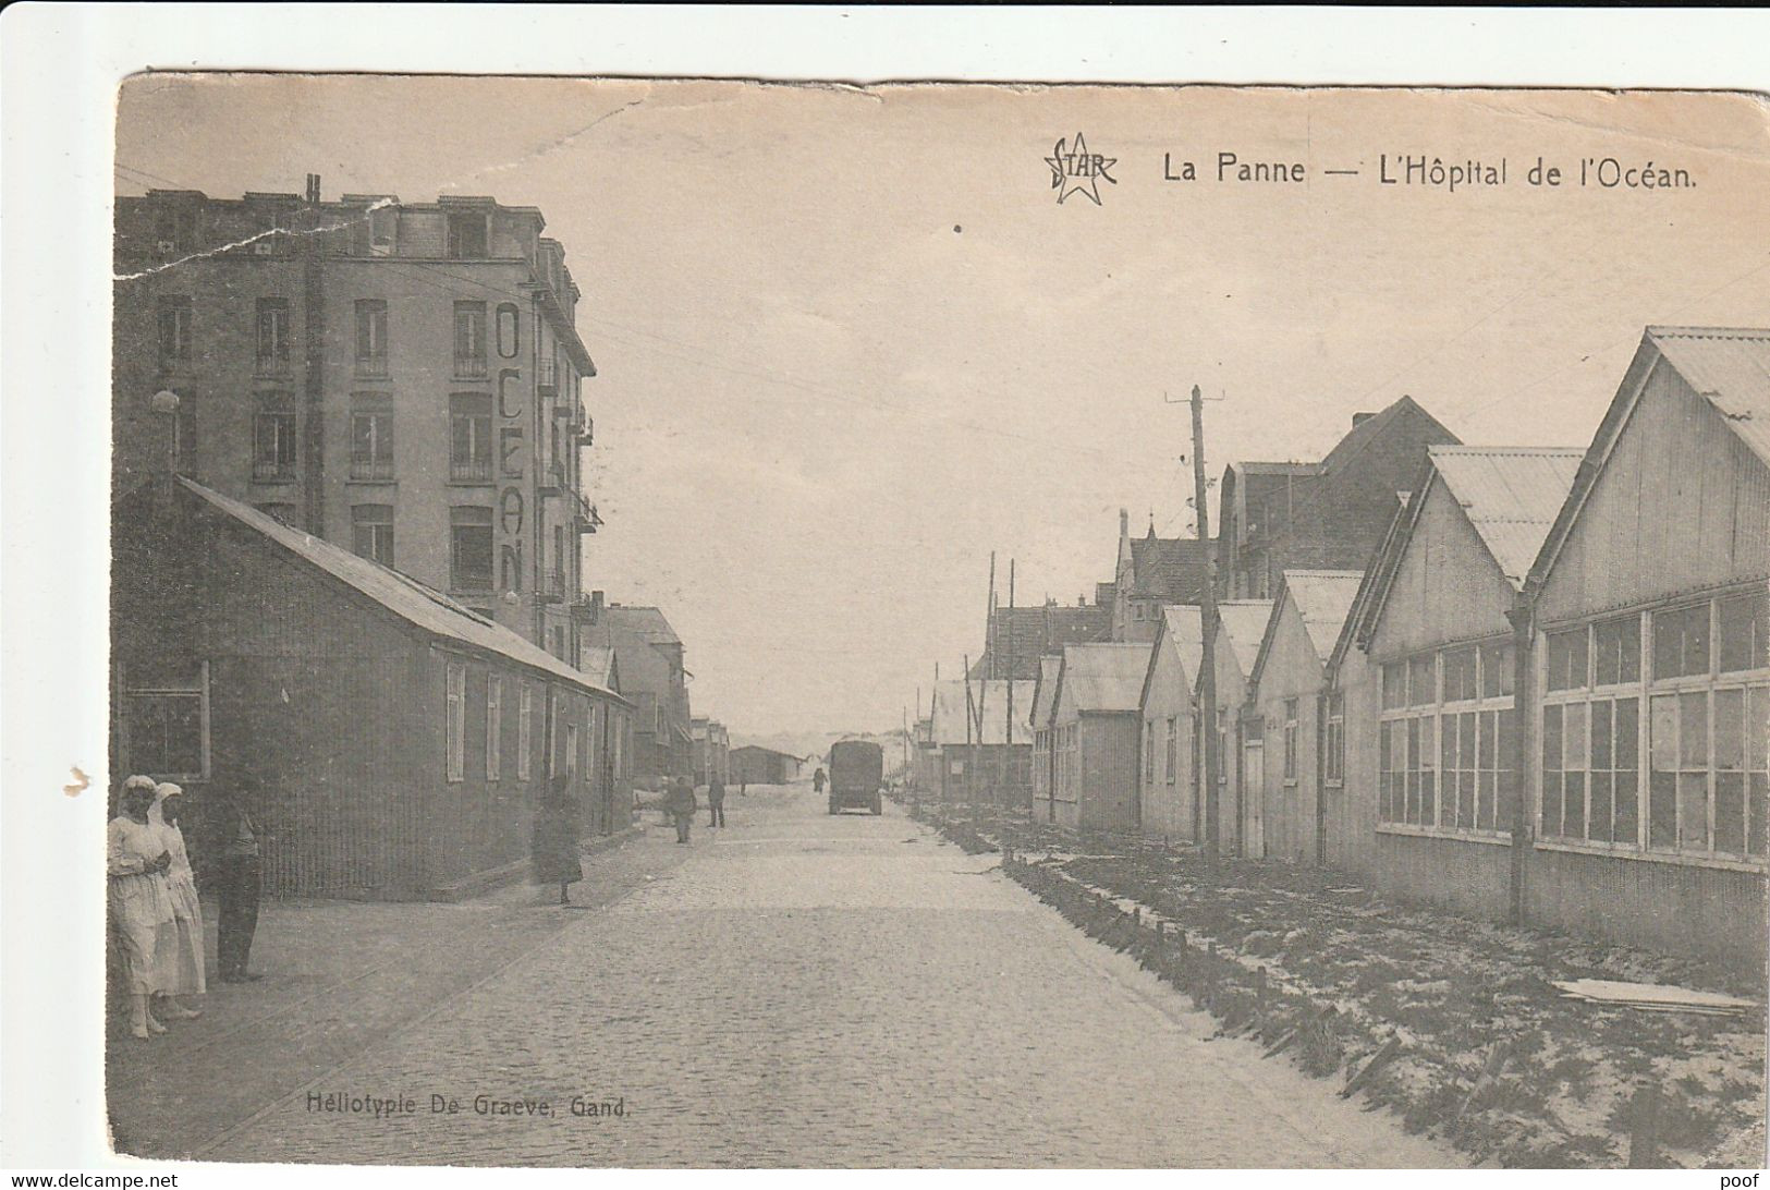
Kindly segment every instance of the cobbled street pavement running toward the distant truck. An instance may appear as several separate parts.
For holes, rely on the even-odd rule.
[[[892,806],[727,797],[499,969],[290,1087],[225,1162],[1439,1167]],[[450,946],[478,946],[471,914]],[[331,1098],[327,1098],[331,1096]],[[373,1101],[391,1105],[377,1116]]]

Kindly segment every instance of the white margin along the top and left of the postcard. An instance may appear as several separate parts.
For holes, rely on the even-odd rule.
[[[71,763],[94,779],[104,770],[106,166],[113,92],[129,71],[1770,83],[1770,16],[1742,11],[19,4],[0,18],[0,574],[11,577],[0,586],[0,1162],[14,1169],[145,1169],[108,1158],[101,1124],[103,1054],[92,1024],[103,999],[103,880],[90,839],[104,799],[60,792]],[[181,1169],[204,1183],[204,1167]],[[232,1178],[211,1167],[214,1174]],[[262,1174],[285,1185],[312,1176]],[[373,1176],[428,1185],[457,1174]],[[582,1174],[570,1176],[581,1183]]]

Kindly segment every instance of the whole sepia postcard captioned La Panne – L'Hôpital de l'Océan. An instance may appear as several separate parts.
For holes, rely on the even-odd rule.
[[[1281,83],[122,78],[110,1151],[1763,1169],[1766,99]]]

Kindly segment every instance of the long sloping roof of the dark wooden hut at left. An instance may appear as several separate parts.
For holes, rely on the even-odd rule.
[[[620,698],[614,691],[602,685],[593,675],[559,661],[547,650],[522,639],[510,629],[467,611],[442,591],[425,586],[411,576],[389,570],[379,561],[370,561],[368,558],[352,554],[349,549],[324,538],[303,533],[301,529],[292,529],[281,521],[276,521],[250,505],[242,505],[230,496],[223,496],[221,492],[211,491],[184,476],[179,476],[179,483],[184,491],[191,492],[211,508],[253,529],[260,537],[276,542],[289,552],[296,554],[301,561],[324,570],[331,577],[354,588],[361,595],[366,595],[384,609],[430,636],[455,641],[458,645],[471,645],[473,648],[480,648],[489,653],[499,653],[510,661],[533,669],[543,669],[558,678],[565,678],[566,682],[573,682],[598,694]]]

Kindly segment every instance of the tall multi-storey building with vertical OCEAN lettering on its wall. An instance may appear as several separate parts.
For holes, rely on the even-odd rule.
[[[170,452],[575,664],[596,372],[543,228],[494,198],[320,200],[317,175],[119,198],[113,492]]]

